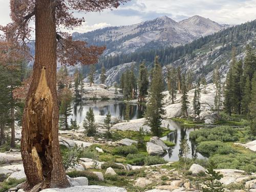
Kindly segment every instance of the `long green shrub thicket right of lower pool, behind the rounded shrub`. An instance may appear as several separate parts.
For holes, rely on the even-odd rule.
[[[230,126],[219,126],[190,132],[189,138],[202,141],[237,141],[238,130]]]

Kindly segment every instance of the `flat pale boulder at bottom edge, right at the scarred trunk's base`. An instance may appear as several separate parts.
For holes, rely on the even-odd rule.
[[[126,189],[120,187],[107,187],[98,185],[74,186],[68,188],[49,188],[41,190],[41,192],[127,192]]]

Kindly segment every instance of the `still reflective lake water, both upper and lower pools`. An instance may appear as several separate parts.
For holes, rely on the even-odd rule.
[[[145,112],[145,106],[139,104],[126,104],[122,101],[115,102],[114,100],[108,101],[93,101],[93,100],[81,100],[79,102],[73,102],[73,114],[70,117],[73,120],[76,119],[77,123],[81,123],[86,117],[86,113],[89,108],[93,108],[95,115],[106,115],[110,111],[112,116],[119,119],[139,119],[142,118]],[[174,142],[176,145],[169,147],[168,153],[164,156],[167,161],[178,161],[179,155],[182,155],[180,148],[181,140],[188,139],[190,146],[189,157],[197,157],[198,159],[205,158],[200,153],[196,152],[196,144],[189,140],[189,133],[191,131],[198,130],[199,127],[186,127],[182,126],[179,122],[168,119],[169,127],[171,130],[176,130],[169,135],[162,137],[162,140],[168,140]]]

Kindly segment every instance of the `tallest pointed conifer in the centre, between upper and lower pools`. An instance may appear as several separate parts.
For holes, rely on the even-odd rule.
[[[163,92],[164,91],[164,78],[162,68],[158,61],[158,56],[155,58],[155,67],[152,77],[149,99],[146,108],[146,121],[151,127],[151,132],[154,136],[161,135],[161,124],[165,111],[163,109]]]

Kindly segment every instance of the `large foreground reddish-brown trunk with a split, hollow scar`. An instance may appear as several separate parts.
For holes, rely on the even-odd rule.
[[[56,24],[52,0],[35,1],[35,61],[26,99],[22,129],[22,158],[26,189],[67,187],[58,141],[56,91]]]

